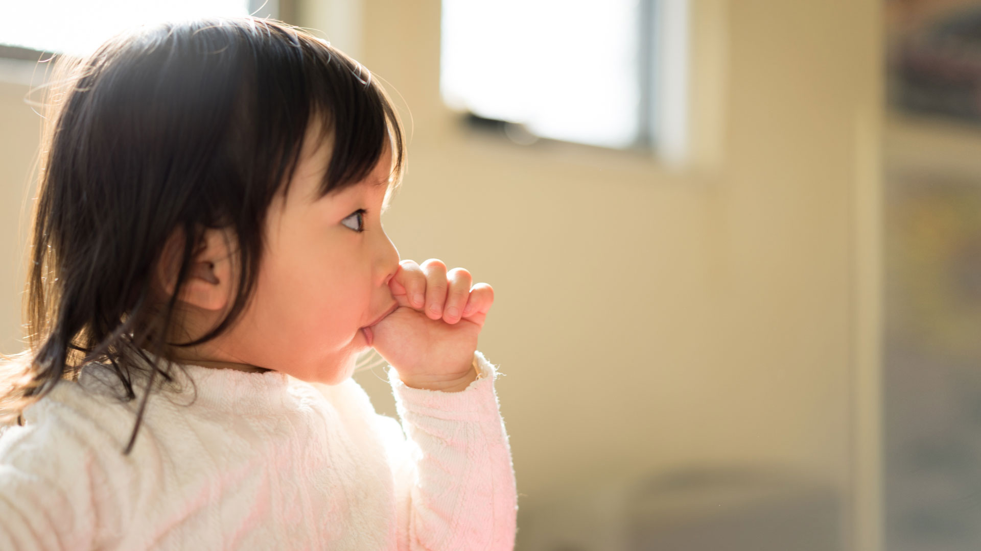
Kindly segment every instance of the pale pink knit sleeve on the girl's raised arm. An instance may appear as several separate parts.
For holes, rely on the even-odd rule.
[[[481,352],[460,392],[410,388],[389,371],[408,453],[394,466],[398,549],[514,548],[517,492],[507,432]]]

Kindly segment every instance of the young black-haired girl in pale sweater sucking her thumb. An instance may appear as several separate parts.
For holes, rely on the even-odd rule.
[[[252,18],[63,69],[0,549],[511,549],[492,289],[399,261],[402,129],[372,75]],[[401,426],[350,377],[370,347]]]

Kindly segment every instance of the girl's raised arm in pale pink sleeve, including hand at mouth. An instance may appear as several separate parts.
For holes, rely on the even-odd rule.
[[[514,547],[514,470],[496,372],[477,351],[493,288],[472,282],[468,271],[447,272],[438,259],[422,266],[403,260],[388,280],[397,308],[372,326],[372,344],[392,367],[411,458],[404,472],[395,470],[396,495],[404,496],[397,507],[401,549]],[[483,377],[475,380],[477,370]]]

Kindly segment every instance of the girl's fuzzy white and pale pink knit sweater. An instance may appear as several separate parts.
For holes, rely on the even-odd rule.
[[[129,456],[139,400],[85,366],[0,437],[0,549],[512,549],[496,370],[475,358],[460,392],[391,372],[401,426],[351,378],[186,366],[197,399],[152,393]]]

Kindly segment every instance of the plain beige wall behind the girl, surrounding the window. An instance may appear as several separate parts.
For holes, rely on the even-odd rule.
[[[402,258],[494,287],[480,349],[506,374],[523,515],[584,481],[762,465],[833,484],[846,528],[863,523],[843,538],[873,549],[874,507],[852,506],[872,503],[876,476],[862,462],[877,433],[862,431],[874,425],[877,2],[693,1],[725,31],[693,44],[696,138],[716,145],[696,148],[709,163],[671,172],[468,132],[439,103],[439,1],[367,0],[351,49],[412,120],[387,232]],[[336,25],[300,8],[302,25]],[[5,235],[37,138],[22,92],[0,87]],[[20,255],[11,239],[0,253],[10,351]],[[387,385],[359,380],[390,413]]]

